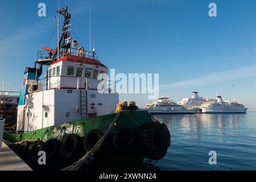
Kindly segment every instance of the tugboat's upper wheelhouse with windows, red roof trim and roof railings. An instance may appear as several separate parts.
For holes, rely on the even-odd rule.
[[[84,51],[82,47],[70,48],[58,60],[52,61],[51,56],[55,50],[42,48],[46,50],[38,52],[36,63],[48,65],[48,69],[45,78],[32,82],[31,92],[49,89],[92,89],[115,92],[115,82],[108,80],[108,67],[96,59],[95,52]]]

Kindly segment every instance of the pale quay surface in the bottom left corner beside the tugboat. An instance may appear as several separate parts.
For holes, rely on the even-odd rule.
[[[0,152],[0,171],[32,171],[4,142]]]

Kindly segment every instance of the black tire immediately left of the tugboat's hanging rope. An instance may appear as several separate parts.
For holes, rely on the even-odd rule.
[[[90,151],[102,136],[102,131],[98,129],[90,130],[82,140],[82,146],[84,146],[86,151]]]

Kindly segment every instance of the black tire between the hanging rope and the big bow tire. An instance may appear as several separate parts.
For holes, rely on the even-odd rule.
[[[131,150],[135,144],[135,133],[133,130],[123,127],[114,134],[114,147],[118,151]]]

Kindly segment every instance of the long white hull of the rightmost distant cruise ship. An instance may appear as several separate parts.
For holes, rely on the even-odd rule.
[[[246,111],[245,107],[223,107],[221,105],[200,109],[200,113],[246,113]]]

